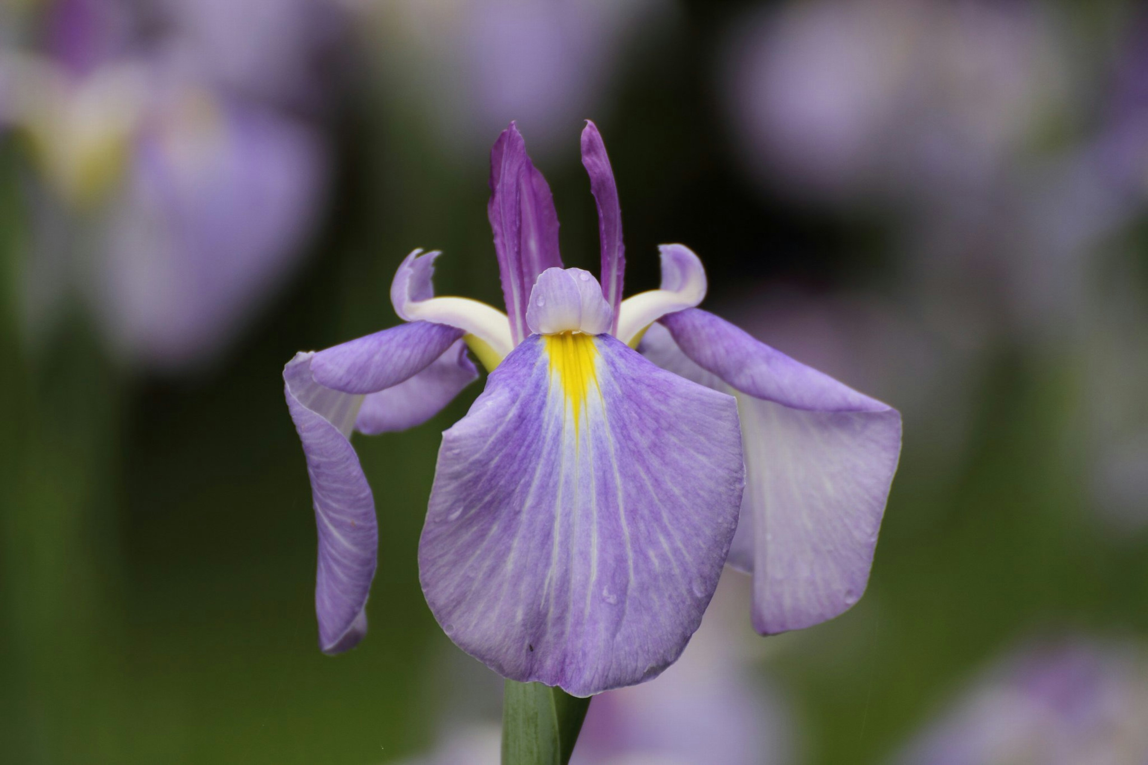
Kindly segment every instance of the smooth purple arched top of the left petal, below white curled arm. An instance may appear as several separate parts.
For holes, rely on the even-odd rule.
[[[316,382],[343,393],[374,393],[414,377],[463,337],[445,324],[411,322],[320,350]]]

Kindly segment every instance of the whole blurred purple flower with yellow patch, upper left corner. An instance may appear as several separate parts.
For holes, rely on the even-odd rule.
[[[276,5],[290,16],[292,2]],[[214,5],[214,23],[241,7],[254,8]],[[183,368],[218,351],[289,271],[321,207],[327,152],[316,123],[227,86],[219,46],[177,26],[144,34],[133,9],[59,0],[49,55],[0,51],[0,117],[31,138],[46,181],[25,314],[42,331],[78,292],[126,356]]]

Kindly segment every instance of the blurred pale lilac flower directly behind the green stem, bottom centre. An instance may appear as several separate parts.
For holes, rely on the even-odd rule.
[[[760,639],[745,619],[750,578],[722,577],[709,610],[676,664],[641,686],[611,690],[590,704],[572,765],[791,765],[799,762],[793,713],[752,667]],[[755,650],[757,649],[757,650]],[[456,680],[458,675],[455,675]],[[448,713],[434,750],[410,765],[497,763],[502,681],[468,677],[466,710]],[[487,719],[475,714],[486,710]]]

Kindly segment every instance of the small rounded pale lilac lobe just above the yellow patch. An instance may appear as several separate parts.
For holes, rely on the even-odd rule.
[[[546,269],[530,291],[526,323],[530,332],[608,332],[613,314],[594,275],[582,269]]]

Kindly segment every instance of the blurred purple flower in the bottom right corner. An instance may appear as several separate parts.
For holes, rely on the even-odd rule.
[[[975,681],[892,759],[903,765],[1148,762],[1148,664],[1093,641],[1030,647]]]

